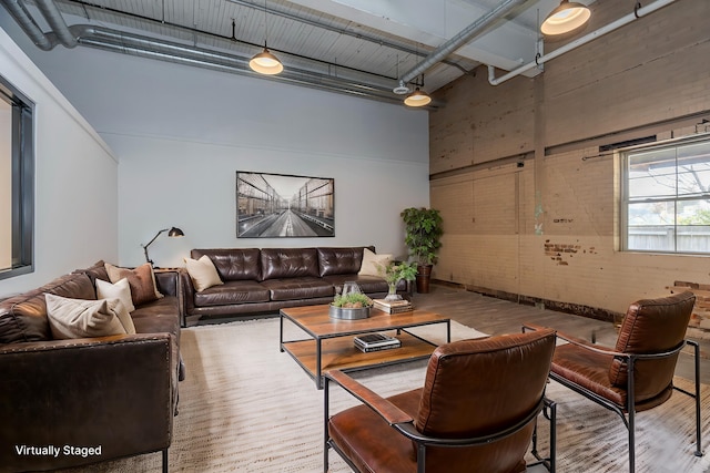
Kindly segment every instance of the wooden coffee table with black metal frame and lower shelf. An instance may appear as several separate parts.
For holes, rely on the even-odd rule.
[[[433,323],[446,325],[446,341],[452,340],[450,319],[426,310],[389,315],[371,309],[367,319],[341,320],[328,316],[328,306],[307,306],[281,309],[278,345],[323,388],[323,371],[339,369],[355,371],[373,367],[403,363],[428,358],[437,343],[425,340],[407,329]],[[290,320],[310,338],[284,340],[284,320]],[[355,348],[353,338],[372,332],[393,333],[402,347],[390,350],[363,352]]]

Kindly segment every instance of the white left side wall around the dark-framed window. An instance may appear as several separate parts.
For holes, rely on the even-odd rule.
[[[37,104],[34,273],[0,280],[3,297],[118,258],[118,162],[2,30],[0,73]]]

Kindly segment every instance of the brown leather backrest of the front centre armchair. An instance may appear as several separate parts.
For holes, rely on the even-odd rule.
[[[438,347],[429,359],[417,429],[432,436],[473,438],[523,421],[542,398],[554,350],[551,329]],[[428,449],[427,472],[491,472],[491,465],[511,471],[529,446],[532,428],[530,422],[483,446]]]

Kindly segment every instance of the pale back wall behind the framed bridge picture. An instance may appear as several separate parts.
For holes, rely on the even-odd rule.
[[[1,23],[0,23],[1,24]],[[375,245],[404,255],[399,212],[427,206],[428,113],[13,38],[119,156],[119,264],[182,265],[191,248]],[[237,239],[236,171],[335,178],[335,237]]]

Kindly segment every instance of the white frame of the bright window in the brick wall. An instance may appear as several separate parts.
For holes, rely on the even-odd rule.
[[[619,169],[620,169],[620,199],[619,199],[619,249],[623,253],[647,253],[647,254],[660,254],[660,255],[677,255],[677,256],[710,256],[710,249],[708,251],[692,251],[692,250],[683,250],[678,248],[679,243],[679,224],[678,224],[678,213],[677,213],[677,204],[694,200],[694,199],[707,199],[710,198],[710,192],[704,192],[701,194],[694,195],[679,195],[678,188],[676,188],[674,196],[661,196],[657,195],[653,197],[646,198],[637,198],[633,199],[629,197],[630,185],[629,185],[629,157],[633,154],[639,153],[650,153],[655,151],[663,151],[663,150],[674,150],[676,156],[678,156],[678,150],[688,145],[693,145],[698,143],[707,143],[710,144],[710,133],[702,133],[699,135],[684,136],[680,138],[671,138],[662,142],[653,142],[651,144],[642,144],[638,146],[631,146],[627,148],[617,150],[619,156]],[[710,164],[710,157],[707,163]],[[676,182],[678,182],[679,175],[679,165],[676,162],[674,165],[674,174]],[[635,203],[672,203],[676,212],[672,224],[673,232],[673,249],[639,249],[639,248],[629,248],[629,206]]]

